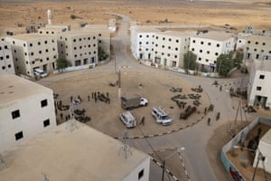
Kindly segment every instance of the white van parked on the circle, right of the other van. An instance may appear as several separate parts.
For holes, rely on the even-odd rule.
[[[153,107],[152,109],[152,115],[154,116],[154,119],[156,122],[166,126],[170,125],[173,122],[173,117],[170,117],[168,113],[163,110],[161,107]]]

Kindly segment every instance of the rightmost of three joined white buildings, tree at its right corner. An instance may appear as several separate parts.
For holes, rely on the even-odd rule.
[[[201,32],[191,37],[190,51],[197,55],[197,63],[209,71],[215,71],[220,54],[228,54],[235,47],[231,33]]]

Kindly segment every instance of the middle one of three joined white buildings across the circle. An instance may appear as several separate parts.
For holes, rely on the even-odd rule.
[[[196,33],[155,33],[153,63],[166,67],[183,67],[183,55],[188,52],[190,37]]]

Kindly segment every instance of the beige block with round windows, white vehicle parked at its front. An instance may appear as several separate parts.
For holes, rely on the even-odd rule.
[[[53,36],[38,33],[6,36],[11,43],[16,74],[34,76],[33,70],[40,68],[51,72],[58,59],[57,41]]]

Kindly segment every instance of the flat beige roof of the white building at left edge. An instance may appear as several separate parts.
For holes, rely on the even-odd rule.
[[[11,73],[0,73],[0,108],[43,92],[52,94],[52,90],[33,81],[25,80]]]

